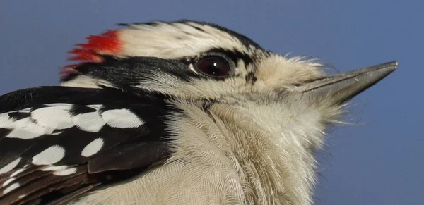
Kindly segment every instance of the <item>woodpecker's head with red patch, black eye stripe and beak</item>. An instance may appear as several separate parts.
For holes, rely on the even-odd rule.
[[[299,116],[303,124],[318,122],[315,130],[322,130],[338,121],[348,99],[397,66],[391,62],[328,75],[326,65],[316,59],[267,51],[211,23],[120,25],[124,28],[90,36],[87,44],[70,51],[71,60],[85,62],[62,68],[62,85],[155,92],[174,99],[243,104],[247,109],[254,104],[271,108],[264,113],[276,119]],[[314,123],[308,123],[312,118]],[[312,144],[322,143],[318,141]]]

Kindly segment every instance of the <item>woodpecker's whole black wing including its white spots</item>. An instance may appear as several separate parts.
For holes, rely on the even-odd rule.
[[[0,204],[64,202],[169,155],[154,94],[35,87],[0,97]]]

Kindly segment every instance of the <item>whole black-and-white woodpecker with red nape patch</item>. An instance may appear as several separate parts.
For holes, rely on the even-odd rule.
[[[396,62],[326,74],[212,23],[120,24],[0,97],[0,204],[312,204],[326,128]]]

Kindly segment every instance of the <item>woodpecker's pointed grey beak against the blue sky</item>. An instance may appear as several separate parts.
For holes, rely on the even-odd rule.
[[[312,94],[314,97],[329,97],[334,99],[334,103],[342,104],[375,85],[396,70],[397,66],[398,63],[394,61],[348,73],[330,75],[309,81],[296,90],[302,94]]]

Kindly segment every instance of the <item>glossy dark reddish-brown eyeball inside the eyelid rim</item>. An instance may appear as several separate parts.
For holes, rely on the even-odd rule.
[[[197,68],[202,72],[213,76],[228,75],[228,63],[220,58],[208,57],[197,63]]]

